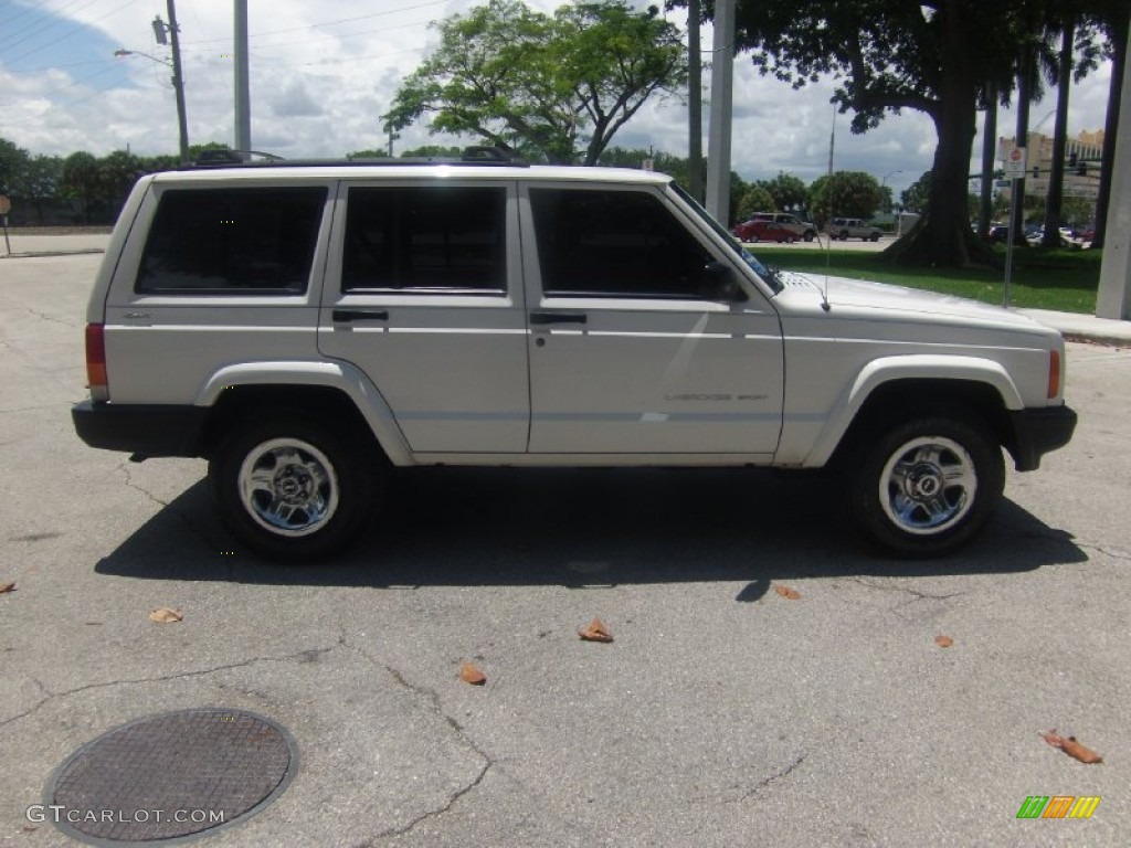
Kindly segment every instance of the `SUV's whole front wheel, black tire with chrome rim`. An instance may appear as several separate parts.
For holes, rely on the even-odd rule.
[[[888,430],[849,471],[857,528],[904,556],[940,556],[982,529],[1001,501],[1001,445],[974,418],[932,415]]]

